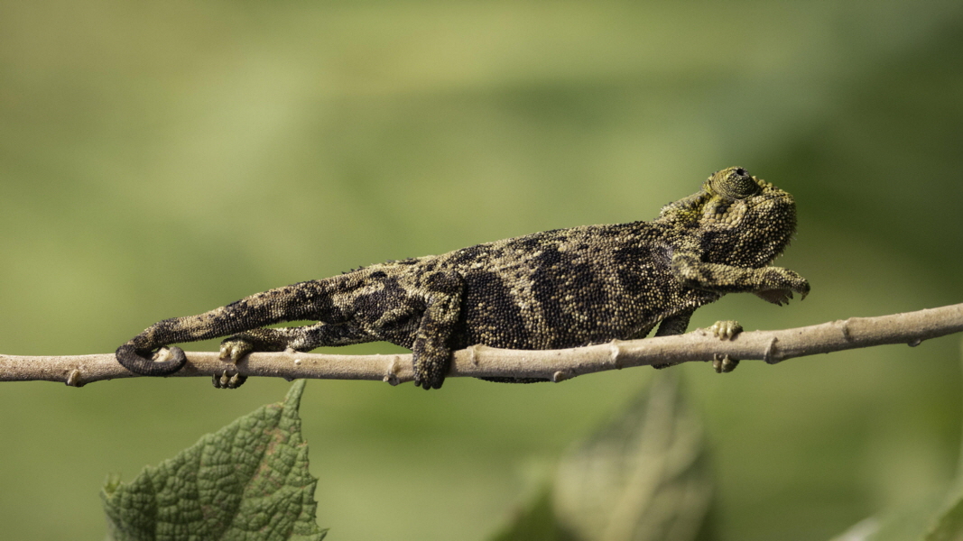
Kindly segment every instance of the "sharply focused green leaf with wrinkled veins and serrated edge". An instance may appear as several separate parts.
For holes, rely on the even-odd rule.
[[[320,541],[307,444],[298,407],[304,381],[284,402],[255,410],[101,491],[117,541]]]

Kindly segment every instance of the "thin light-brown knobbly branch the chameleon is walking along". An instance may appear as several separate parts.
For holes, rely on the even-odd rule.
[[[642,365],[712,361],[716,356],[760,359],[775,364],[793,357],[884,344],[919,346],[924,340],[963,331],[963,304],[918,312],[849,318],[785,330],[742,332],[722,341],[705,329],[687,334],[613,340],[572,349],[519,350],[473,346],[455,351],[449,377],[538,377],[562,381],[577,375]],[[251,353],[231,369],[216,352],[189,351],[174,377],[229,374],[285,379],[371,379],[397,385],[411,381],[411,355]],[[80,387],[92,381],[138,377],[117,364],[114,353],[67,356],[0,355],[0,381],[62,381]]]

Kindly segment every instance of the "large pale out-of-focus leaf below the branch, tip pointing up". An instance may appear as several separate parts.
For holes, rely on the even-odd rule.
[[[585,541],[707,539],[705,457],[702,425],[677,375],[659,374],[647,394],[562,458],[556,516]]]

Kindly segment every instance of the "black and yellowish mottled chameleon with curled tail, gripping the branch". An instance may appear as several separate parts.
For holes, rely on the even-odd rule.
[[[681,334],[696,308],[727,293],[775,304],[806,296],[805,278],[768,267],[794,232],[793,196],[729,167],[652,221],[544,231],[276,288],[156,322],[117,348],[117,361],[168,375],[186,363],[183,350],[152,356],[171,344],[226,336],[221,359],[236,363],[251,351],[387,341],[412,349],[415,385],[438,389],[458,348],[575,348],[643,338],[657,324],[656,336]],[[318,323],[263,328],[303,320]],[[713,329],[722,339],[742,330]],[[732,368],[727,359],[721,371]],[[233,388],[244,377],[225,370],[214,381]]]

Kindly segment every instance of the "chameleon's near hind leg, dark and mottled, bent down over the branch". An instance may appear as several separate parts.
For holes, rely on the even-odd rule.
[[[428,306],[415,331],[411,348],[415,386],[440,389],[452,358],[449,342],[458,322],[464,285],[454,272],[434,272],[425,282]]]

